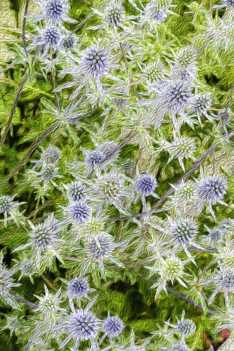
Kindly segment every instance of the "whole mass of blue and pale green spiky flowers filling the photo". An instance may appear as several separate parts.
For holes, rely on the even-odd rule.
[[[190,350],[186,338],[196,332],[196,325],[184,318],[185,312],[181,311],[177,324],[163,321],[163,331],[152,331],[143,343],[135,343],[132,331],[128,345],[122,337],[125,327],[121,318],[109,311],[106,319],[102,318],[97,307],[98,289],[111,279],[122,279],[121,270],[135,267],[136,279],[142,277],[140,268],[143,277],[153,282],[155,299],[173,292],[170,286],[177,284],[189,296],[185,299],[194,298],[195,305],[207,310],[207,304],[214,305],[217,294],[223,293],[225,311],[220,316],[221,308],[217,307],[214,319],[219,328],[234,331],[234,222],[231,218],[220,221],[216,211],[230,209],[225,202],[230,173],[221,161],[212,172],[209,165],[202,166],[209,150],[204,157],[201,143],[211,137],[228,148],[231,111],[225,107],[215,114],[212,91],[200,81],[200,36],[193,45],[175,49],[177,40],[163,27],[168,19],[178,17],[170,0],[151,0],[146,6],[129,1],[129,15],[121,1],[104,2],[98,9],[92,8],[101,23],[85,29],[97,31],[92,39],[85,35],[78,39],[76,28],[71,32],[64,27],[64,22],[76,25],[69,17],[68,0],[35,3],[39,13],[27,18],[37,34],[27,51],[39,60],[46,78],[49,73],[53,76],[55,97],[55,105],[46,98],[41,100],[46,107],[43,112],[58,122],[58,134],[76,140],[75,129],[87,132],[94,148],[80,146],[80,153],[67,161],[62,147],[57,146],[58,136],[32,161],[34,166],[27,170],[25,179],[36,193],[33,216],[26,217],[20,211],[25,202],[15,201],[18,195],[0,196],[4,227],[15,223],[28,237],[25,244],[13,249],[18,255],[13,267],[7,268],[1,255],[1,300],[16,311],[20,301],[29,303],[17,296],[20,284],[15,274],[20,274],[18,280],[29,277],[33,283],[34,277],[56,272],[62,265],[69,269],[67,275],[74,277],[69,281],[61,278],[58,290],[52,284],[56,293],[46,288],[44,296],[35,295],[38,303],[31,303],[34,315],[29,318],[30,327],[15,314],[7,317],[5,328],[27,335],[25,350],[51,350],[51,342],[62,350],[79,350],[81,345],[86,347],[83,350],[95,351],[146,350],[150,344],[156,347],[156,338],[159,350]],[[233,1],[214,6],[214,10],[222,7],[225,15],[213,32],[206,33],[217,49],[223,33],[228,36],[233,24]],[[204,10],[204,15],[209,23],[209,11]],[[168,40],[165,48],[160,48],[162,35]],[[233,43],[230,35],[227,43],[225,49]],[[205,41],[202,46],[208,44]],[[160,48],[158,55],[154,46]],[[150,62],[149,55],[153,57]],[[57,84],[64,77],[73,80]],[[102,114],[97,128],[96,122],[84,117],[98,109]],[[185,125],[192,137],[187,136]],[[139,147],[137,159],[121,161],[121,150],[131,144]],[[167,180],[171,190],[163,195],[165,187],[154,160],[165,160],[165,154],[167,163],[161,165],[164,179],[172,179],[175,173],[181,173],[181,178],[175,184]],[[188,180],[196,169],[196,178]],[[56,196],[53,212],[37,223],[39,204],[46,204],[51,195]],[[62,198],[58,206],[57,198]],[[164,202],[165,208],[158,209]],[[153,215],[157,211],[164,217]],[[202,216],[213,221],[214,227],[204,226]],[[113,223],[118,220],[126,220],[126,224],[121,222],[116,230]],[[204,270],[198,252],[204,253]],[[212,265],[216,268],[209,271]],[[209,286],[213,286],[212,291]],[[90,298],[91,294],[96,296]],[[220,319],[226,323],[220,324]]]

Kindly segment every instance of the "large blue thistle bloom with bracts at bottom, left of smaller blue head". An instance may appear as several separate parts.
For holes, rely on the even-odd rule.
[[[67,333],[67,338],[60,344],[60,349],[64,349],[70,340],[75,341],[75,350],[78,350],[80,341],[94,340],[100,330],[101,321],[90,312],[86,306],[85,310],[77,310],[68,315],[67,320],[61,322],[60,328]]]

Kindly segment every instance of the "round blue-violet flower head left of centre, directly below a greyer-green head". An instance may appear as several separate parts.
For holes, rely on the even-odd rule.
[[[76,224],[90,218],[90,207],[84,201],[72,201],[66,208],[67,217]]]

